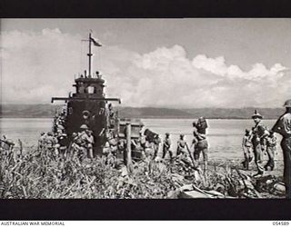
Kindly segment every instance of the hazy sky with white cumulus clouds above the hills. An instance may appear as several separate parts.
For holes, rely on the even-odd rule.
[[[124,105],[278,107],[291,98],[291,19],[1,20],[2,103],[49,103],[87,65]]]

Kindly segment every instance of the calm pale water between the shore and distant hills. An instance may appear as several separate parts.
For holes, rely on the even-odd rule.
[[[142,119],[146,127],[164,137],[171,133],[172,149],[176,151],[176,140],[179,133],[186,134],[186,141],[192,141],[191,119]],[[4,118],[0,119],[0,134],[5,134],[14,140],[20,139],[25,146],[35,145],[41,132],[50,131],[53,119],[50,118]],[[272,127],[275,120],[265,120],[268,127]],[[209,158],[240,159],[243,158],[241,141],[246,128],[253,126],[252,120],[208,120]],[[282,160],[278,137],[277,160]],[[265,156],[266,157],[266,156]]]

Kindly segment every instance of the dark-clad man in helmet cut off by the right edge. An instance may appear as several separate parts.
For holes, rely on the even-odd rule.
[[[281,147],[284,156],[284,181],[286,183],[286,198],[291,199],[291,99],[284,104],[286,113],[281,115],[272,131],[283,136]]]

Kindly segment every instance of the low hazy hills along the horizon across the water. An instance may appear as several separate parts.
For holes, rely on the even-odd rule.
[[[2,118],[47,118],[53,117],[55,108],[62,105],[53,104],[1,104],[0,117]],[[254,108],[226,109],[226,108],[154,108],[154,107],[116,107],[121,117],[125,118],[206,118],[219,119],[249,119]],[[283,114],[284,109],[258,108],[266,119],[275,119]]]

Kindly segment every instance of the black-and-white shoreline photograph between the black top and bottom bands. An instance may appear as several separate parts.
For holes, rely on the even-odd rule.
[[[1,199],[290,199],[290,18],[1,19]]]

